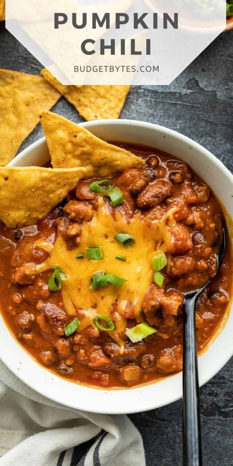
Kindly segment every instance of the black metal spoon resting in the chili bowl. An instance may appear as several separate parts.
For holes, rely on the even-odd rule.
[[[219,271],[226,247],[226,231],[222,224],[222,238],[217,256]],[[199,295],[214,277],[202,287],[185,293],[183,306],[183,464],[202,466],[201,429],[199,411],[198,353],[195,327],[195,307]]]

